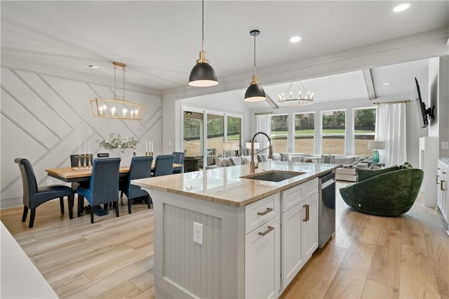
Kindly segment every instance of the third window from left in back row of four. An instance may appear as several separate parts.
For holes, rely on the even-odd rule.
[[[344,155],[345,111],[322,112],[321,121],[321,153]]]

